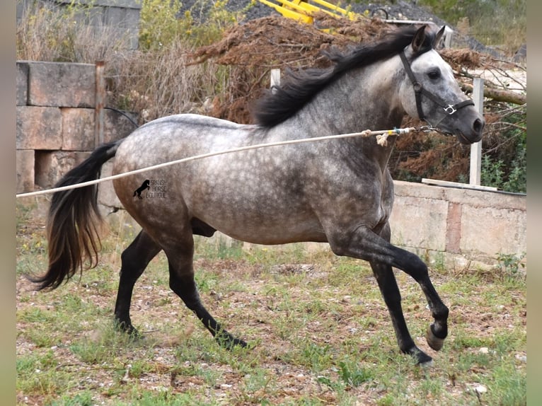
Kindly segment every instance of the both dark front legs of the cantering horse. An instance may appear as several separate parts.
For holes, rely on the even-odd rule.
[[[401,351],[415,356],[420,364],[428,362],[431,357],[415,346],[408,332],[392,267],[401,269],[413,277],[420,284],[427,298],[434,318],[434,324],[429,326],[426,336],[427,343],[432,349],[441,349],[444,338],[448,335],[448,308],[434,289],[425,263],[417,255],[391,245],[389,224],[386,222],[377,232],[365,226],[359,226],[352,233],[335,234],[337,237],[330,240],[330,245],[337,255],[369,261],[390,311]]]

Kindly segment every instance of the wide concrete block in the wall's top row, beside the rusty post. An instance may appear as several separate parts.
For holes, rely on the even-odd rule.
[[[93,64],[29,62],[28,104],[93,108],[96,67]]]

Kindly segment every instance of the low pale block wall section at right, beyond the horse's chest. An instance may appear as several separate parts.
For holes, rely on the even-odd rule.
[[[395,181],[392,242],[446,267],[527,251],[526,195]]]

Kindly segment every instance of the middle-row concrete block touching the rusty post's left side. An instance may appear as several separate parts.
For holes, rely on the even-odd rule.
[[[94,149],[94,109],[62,108],[62,150]]]

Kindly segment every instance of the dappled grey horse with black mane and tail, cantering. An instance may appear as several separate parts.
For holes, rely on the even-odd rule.
[[[115,156],[114,173],[212,151],[364,129],[400,127],[405,115],[455,134],[463,144],[482,137],[484,119],[461,93],[439,56],[438,33],[427,27],[396,30],[383,40],[347,52],[328,52],[329,69],[289,74],[255,108],[256,124],[200,115],[172,115],[144,124],[129,137],[99,146],[59,186],[94,180]],[[419,257],[390,243],[393,182],[386,146],[375,137],[273,146],[205,158],[114,180],[115,192],[142,231],[122,253],[115,320],[137,332],[129,316],[132,291],[161,250],[170,286],[217,341],[245,346],[209,314],[194,281],[193,235],[219,230],[257,244],[329,243],[336,255],[367,260],[391,315],[401,351],[419,363],[431,357],[416,347],[400,305],[392,267],[413,277],[427,297],[434,323],[427,342],[441,349],[448,308]],[[148,188],[138,190],[145,180]],[[47,221],[49,269],[34,277],[38,289],[55,289],[98,257],[96,185],[57,192]]]

